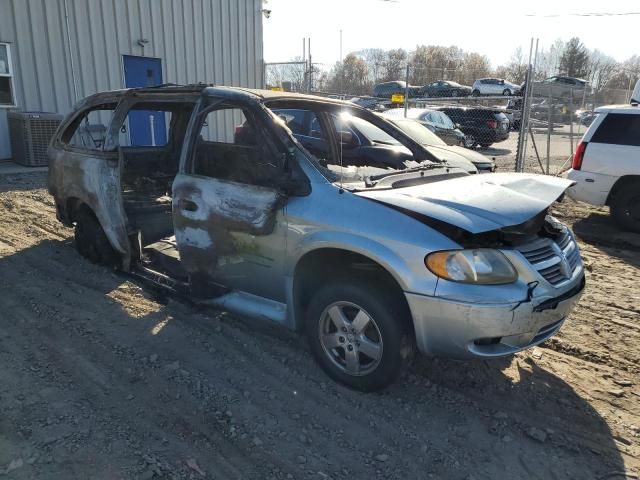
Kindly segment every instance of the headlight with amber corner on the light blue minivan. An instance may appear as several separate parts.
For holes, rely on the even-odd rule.
[[[489,248],[434,252],[424,263],[438,277],[453,282],[500,285],[518,279],[507,257]]]

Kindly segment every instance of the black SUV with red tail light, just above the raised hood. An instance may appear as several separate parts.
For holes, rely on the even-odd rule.
[[[483,107],[436,107],[459,125],[467,147],[487,148],[509,138],[509,119],[500,110]]]

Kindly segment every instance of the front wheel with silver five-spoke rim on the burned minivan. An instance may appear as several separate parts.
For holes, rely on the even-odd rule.
[[[393,383],[413,355],[410,316],[389,289],[353,279],[320,288],[306,312],[309,346],[334,380],[361,391]]]

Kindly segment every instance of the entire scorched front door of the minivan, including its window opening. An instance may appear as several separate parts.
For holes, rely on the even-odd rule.
[[[197,133],[173,183],[173,221],[200,296],[221,284],[285,299],[284,166],[261,113],[225,102],[192,120]]]

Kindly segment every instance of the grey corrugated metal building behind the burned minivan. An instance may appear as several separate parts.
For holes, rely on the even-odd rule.
[[[262,86],[262,0],[0,0],[0,159],[7,111],[67,113],[98,91]]]

